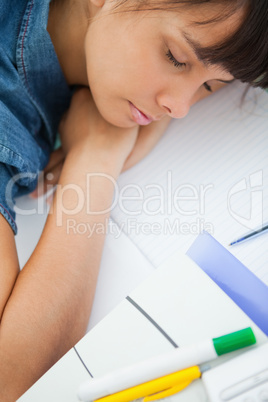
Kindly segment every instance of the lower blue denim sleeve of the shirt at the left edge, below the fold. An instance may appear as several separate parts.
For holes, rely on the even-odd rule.
[[[14,234],[15,199],[35,189],[47,157],[37,140],[0,101],[0,213]]]

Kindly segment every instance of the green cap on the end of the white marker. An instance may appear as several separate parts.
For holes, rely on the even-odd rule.
[[[231,334],[220,336],[212,339],[214,348],[218,356],[224,353],[233,352],[234,350],[244,348],[256,343],[255,335],[252,329],[245,328]]]

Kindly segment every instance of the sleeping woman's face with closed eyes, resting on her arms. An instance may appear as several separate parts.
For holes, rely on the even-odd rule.
[[[202,18],[193,10],[115,13],[112,3],[97,9],[85,40],[89,86],[110,123],[133,127],[167,114],[182,118],[210,88],[213,92],[233,79],[220,66],[199,60],[194,45],[225,38],[237,27],[237,14],[197,26],[192,21]],[[203,19],[215,16],[210,9],[203,10]]]

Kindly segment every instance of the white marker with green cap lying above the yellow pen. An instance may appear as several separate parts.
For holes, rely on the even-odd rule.
[[[196,366],[218,356],[256,343],[251,328],[194,345],[182,346],[169,353],[152,357],[132,366],[113,371],[104,377],[93,378],[81,384],[78,397],[93,401],[147,381]]]

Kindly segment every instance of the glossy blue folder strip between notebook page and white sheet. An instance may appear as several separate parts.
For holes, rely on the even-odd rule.
[[[207,232],[197,237],[187,255],[268,336],[268,286]]]

